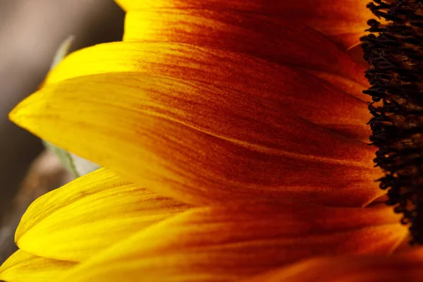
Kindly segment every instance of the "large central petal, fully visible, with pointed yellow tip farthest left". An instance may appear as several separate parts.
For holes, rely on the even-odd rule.
[[[192,204],[289,196],[354,206],[381,193],[372,147],[205,82],[140,73],[72,78],[33,94],[11,119]]]

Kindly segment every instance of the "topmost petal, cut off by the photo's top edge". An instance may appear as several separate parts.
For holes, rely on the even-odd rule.
[[[294,24],[313,27],[343,47],[350,47],[364,35],[369,26],[367,20],[374,18],[366,8],[369,0],[344,0],[329,3],[325,0],[116,0],[125,11],[172,8],[208,9],[225,13],[245,11],[283,18]]]

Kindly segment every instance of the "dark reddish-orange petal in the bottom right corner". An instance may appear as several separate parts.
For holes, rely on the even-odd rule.
[[[346,256],[309,259],[245,282],[419,282],[423,281],[423,250],[403,255]]]

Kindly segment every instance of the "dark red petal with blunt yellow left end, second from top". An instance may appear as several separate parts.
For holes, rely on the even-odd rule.
[[[324,35],[283,18],[241,11],[157,9],[130,11],[124,41],[162,41],[241,52],[304,68],[342,90],[366,99],[365,68]]]

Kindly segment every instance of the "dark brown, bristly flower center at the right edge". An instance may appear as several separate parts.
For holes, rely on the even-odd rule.
[[[370,141],[378,147],[374,162],[385,176],[386,204],[410,225],[410,244],[423,244],[423,0],[373,0],[371,34],[362,37],[373,118]]]

